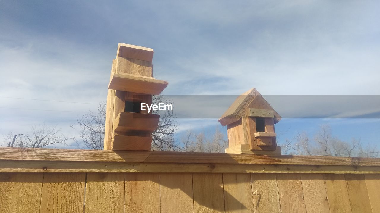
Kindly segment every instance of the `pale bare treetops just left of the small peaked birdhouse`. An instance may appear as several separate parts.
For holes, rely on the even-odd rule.
[[[219,128],[215,129],[214,134],[205,131],[195,134],[191,131],[182,138],[183,148],[185,152],[224,152],[228,147],[228,141],[225,135],[220,132]]]

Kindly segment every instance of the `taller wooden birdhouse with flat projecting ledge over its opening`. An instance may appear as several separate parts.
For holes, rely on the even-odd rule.
[[[150,150],[160,115],[141,111],[168,86],[153,77],[153,50],[119,43],[108,85],[104,149]]]

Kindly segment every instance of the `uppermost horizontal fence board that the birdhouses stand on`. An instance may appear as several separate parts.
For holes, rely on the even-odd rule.
[[[0,161],[380,166],[380,158],[0,147]]]

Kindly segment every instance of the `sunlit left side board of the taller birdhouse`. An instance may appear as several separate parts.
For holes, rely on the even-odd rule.
[[[116,72],[116,60],[112,60],[112,73]],[[115,90],[108,89],[107,103],[106,103],[106,124],[104,129],[104,150],[111,149],[112,140],[112,123],[114,121],[114,100],[115,100]]]

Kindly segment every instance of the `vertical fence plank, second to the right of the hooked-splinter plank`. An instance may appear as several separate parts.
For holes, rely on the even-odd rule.
[[[300,174],[307,213],[330,213],[323,174]]]

